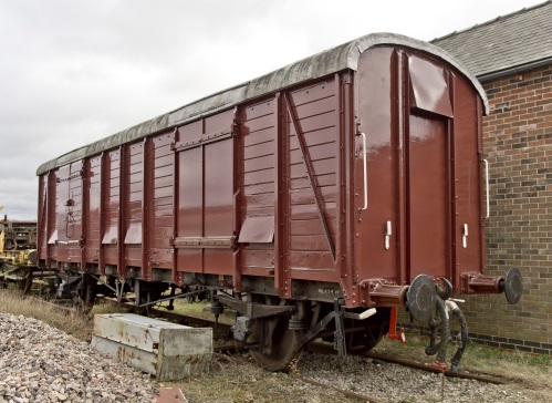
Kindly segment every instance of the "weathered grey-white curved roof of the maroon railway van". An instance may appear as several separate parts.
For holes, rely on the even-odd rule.
[[[399,45],[423,52],[435,54],[447,61],[468,78],[478,91],[485,104],[485,113],[488,113],[489,103],[481,84],[459,61],[442,49],[427,42],[418,41],[408,37],[394,33],[372,33],[342,45],[316,53],[310,58],[289,64],[282,69],[262,75],[258,79],[220,91],[206,96],[175,111],[165,113],[149,121],[145,121],[133,127],[115,133],[108,137],[74,149],[58,158],[42,164],[37,175],[66,165],[84,157],[100,154],[122,144],[136,141],[154,133],[183,125],[186,122],[199,117],[212,115],[219,111],[228,110],[244,101],[253,100],[292,85],[322,78],[346,69],[356,71],[360,55],[367,49],[377,45]]]

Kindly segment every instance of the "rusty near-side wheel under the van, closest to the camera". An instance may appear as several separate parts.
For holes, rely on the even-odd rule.
[[[278,304],[272,298],[264,303]],[[289,329],[290,318],[291,313],[282,313],[258,319],[253,328],[253,338],[260,341],[260,345],[258,350],[250,350],[250,354],[267,371],[287,371],[301,355],[302,349],[295,351],[295,332]]]

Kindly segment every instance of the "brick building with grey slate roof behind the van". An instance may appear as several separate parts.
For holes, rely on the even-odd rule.
[[[552,354],[552,1],[438,38],[489,97],[486,273],[523,275],[517,306],[503,294],[467,297],[470,338]]]

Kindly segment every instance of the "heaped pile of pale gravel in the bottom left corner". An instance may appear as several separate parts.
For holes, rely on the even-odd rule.
[[[154,402],[149,375],[32,318],[0,313],[0,403]]]

